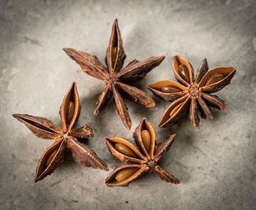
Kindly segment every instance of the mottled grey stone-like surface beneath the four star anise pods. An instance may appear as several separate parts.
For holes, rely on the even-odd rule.
[[[0,209],[255,209],[256,206],[256,4],[255,1],[1,1],[0,5]],[[87,74],[61,50],[73,47],[104,61],[114,18],[118,18],[126,63],[166,55],[138,87],[173,79],[171,57],[180,54],[197,69],[235,66],[231,84],[218,93],[227,101],[214,120],[192,128],[185,118],[159,129],[168,103],[145,109],[127,101],[132,129],[127,131],[108,104],[93,115],[104,84]],[[110,166],[118,165],[104,136],[132,139],[147,117],[158,139],[177,133],[162,167],[181,179],[163,182],[141,176],[129,187],[104,184],[110,171],[83,168],[67,153],[64,164],[34,183],[42,152],[53,141],[34,136],[12,113],[48,117],[60,123],[59,106],[69,85],[78,84],[83,106],[80,125],[91,123],[89,145]]]

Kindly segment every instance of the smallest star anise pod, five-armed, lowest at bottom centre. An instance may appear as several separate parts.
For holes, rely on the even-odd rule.
[[[166,182],[178,184],[179,180],[162,169],[157,162],[170,149],[176,135],[171,135],[157,144],[157,136],[153,126],[146,118],[135,129],[133,137],[138,145],[121,137],[106,137],[106,143],[111,154],[123,163],[117,166],[108,176],[105,183],[108,187],[125,187],[146,171],[157,173]],[[157,144],[157,147],[156,147]]]

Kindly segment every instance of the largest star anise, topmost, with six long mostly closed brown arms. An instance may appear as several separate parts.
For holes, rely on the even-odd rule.
[[[158,66],[165,56],[154,56],[144,61],[132,60],[122,69],[126,55],[124,53],[121,33],[118,28],[117,20],[114,20],[110,41],[108,44],[107,55],[105,58],[105,67],[95,55],[89,55],[86,52],[64,48],[67,55],[75,60],[82,71],[101,79],[105,82],[105,90],[99,94],[94,114],[97,115],[105,108],[108,101],[113,97],[118,112],[124,126],[131,128],[132,122],[129,117],[128,109],[121,93],[135,103],[146,107],[154,107],[154,100],[143,91],[130,85],[131,82],[138,81],[146,77],[146,74]]]

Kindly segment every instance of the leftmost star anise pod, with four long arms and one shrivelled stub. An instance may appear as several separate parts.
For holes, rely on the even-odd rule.
[[[32,133],[42,139],[54,139],[53,144],[43,153],[37,165],[34,181],[37,182],[50,175],[64,160],[64,150],[69,149],[72,158],[82,166],[99,168],[108,171],[108,166],[84,141],[94,136],[89,125],[74,128],[80,116],[80,101],[75,82],[67,91],[62,101],[59,114],[61,128],[45,117],[34,117],[29,114],[12,114],[24,123]]]

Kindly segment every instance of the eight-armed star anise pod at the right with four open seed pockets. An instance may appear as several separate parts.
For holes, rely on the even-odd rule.
[[[184,58],[176,55],[173,57],[173,71],[178,82],[162,80],[148,85],[157,96],[165,101],[173,101],[165,110],[159,127],[169,127],[177,123],[181,117],[189,113],[189,119],[193,127],[199,125],[197,116],[199,109],[201,117],[213,119],[211,107],[223,110],[227,107],[225,101],[210,93],[222,90],[230,84],[230,80],[236,73],[233,67],[219,67],[208,71],[208,63],[203,59],[194,77],[192,65]]]

